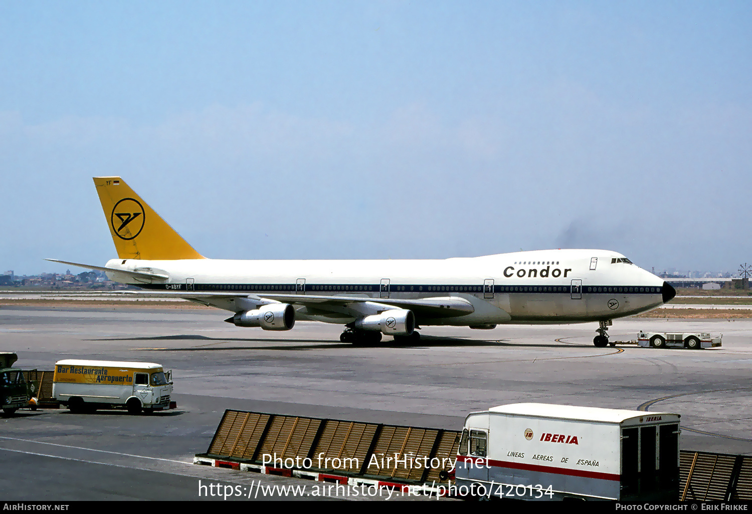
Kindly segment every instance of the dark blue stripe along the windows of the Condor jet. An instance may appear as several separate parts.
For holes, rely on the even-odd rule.
[[[162,291],[187,291],[186,284],[135,284],[144,289],[160,289]],[[265,293],[285,293],[296,292],[300,289],[295,283],[215,283],[215,284],[193,284],[194,292],[265,292]],[[484,289],[486,286],[478,285],[461,285],[461,284],[444,284],[444,285],[424,285],[424,284],[390,284],[389,289],[381,289],[381,284],[305,284],[305,292],[309,293],[327,293],[327,292],[414,292],[414,293],[446,293],[446,292],[465,292],[465,293],[484,293],[489,290]],[[494,285],[494,293],[526,293],[526,294],[562,294],[569,295],[572,293],[572,286],[540,286],[540,285]],[[581,286],[581,294],[584,295],[660,295],[663,294],[662,287],[645,287],[645,286]],[[577,288],[575,288],[577,294]]]

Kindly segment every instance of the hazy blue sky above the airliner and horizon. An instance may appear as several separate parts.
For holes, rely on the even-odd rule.
[[[199,252],[752,260],[749,2],[2,2],[0,271]]]

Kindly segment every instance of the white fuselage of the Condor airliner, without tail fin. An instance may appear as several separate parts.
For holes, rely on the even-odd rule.
[[[423,319],[421,325],[571,323],[631,316],[674,295],[663,279],[607,250],[549,249],[444,260],[238,261],[113,259],[108,268],[168,275],[134,280],[108,271],[111,280],[145,289],[249,295],[346,295],[373,298],[459,297],[475,311]],[[626,260],[626,259],[625,259]],[[670,291],[670,292],[669,292]],[[238,310],[232,300],[205,301]],[[342,314],[299,310],[301,319],[347,323]]]

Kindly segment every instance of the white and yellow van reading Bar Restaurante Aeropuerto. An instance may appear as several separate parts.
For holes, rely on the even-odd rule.
[[[117,407],[151,413],[170,407],[171,374],[153,362],[66,359],[55,364],[52,395],[73,413]]]

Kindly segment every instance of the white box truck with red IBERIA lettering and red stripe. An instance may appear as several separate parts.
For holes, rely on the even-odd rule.
[[[679,417],[551,404],[470,413],[457,451],[457,494],[674,502]]]

